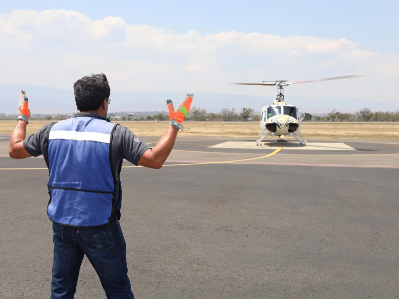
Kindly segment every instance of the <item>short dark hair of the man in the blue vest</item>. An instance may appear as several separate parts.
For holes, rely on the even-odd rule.
[[[107,77],[103,73],[84,76],[73,83],[73,89],[79,111],[97,110],[111,94]]]

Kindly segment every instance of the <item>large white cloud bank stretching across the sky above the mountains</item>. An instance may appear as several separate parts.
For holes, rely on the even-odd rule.
[[[335,82],[331,86],[338,88],[330,91],[331,96],[368,98],[381,93],[378,84],[396,80],[399,74],[399,55],[363,51],[345,38],[196,30],[177,34],[167,28],[127,24],[120,17],[91,20],[62,9],[1,14],[0,39],[1,84],[70,89],[81,76],[104,72],[117,91],[270,95],[275,91],[228,83],[359,74],[368,78],[361,89],[354,88],[360,81]],[[295,88],[318,96],[330,89],[327,86]],[[394,88],[387,93],[397,93]]]

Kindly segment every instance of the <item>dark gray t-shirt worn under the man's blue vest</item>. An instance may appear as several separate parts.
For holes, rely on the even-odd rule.
[[[90,113],[76,113],[74,117],[96,117],[100,119],[104,119],[104,117],[98,114],[90,114]],[[48,167],[48,135],[50,133],[50,129],[56,123],[50,123],[45,125],[39,131],[30,135],[23,141],[23,147],[26,151],[34,157],[42,154],[44,160],[46,161]],[[117,177],[120,172],[120,163],[123,159],[128,160],[129,162],[135,164],[137,166],[141,156],[143,153],[150,149],[151,147],[142,142],[136,135],[132,133],[128,128],[123,126],[116,126],[114,131],[114,135],[111,143],[111,165],[112,172]]]

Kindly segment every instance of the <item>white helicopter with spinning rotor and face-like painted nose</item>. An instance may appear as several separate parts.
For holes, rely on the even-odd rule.
[[[274,103],[272,105],[267,105],[262,108],[262,112],[260,115],[260,132],[258,136],[260,138],[256,141],[257,146],[261,146],[260,142],[267,136],[277,137],[278,140],[282,140],[284,136],[290,136],[295,138],[302,146],[306,146],[306,140],[302,140],[303,136],[301,134],[301,121],[303,121],[303,119],[305,118],[305,113],[298,110],[298,108],[295,105],[289,105],[285,102],[284,100],[285,87],[292,84],[337,80],[337,79],[348,79],[355,77],[363,77],[363,76],[346,75],[346,76],[307,80],[307,81],[276,80],[276,81],[262,81],[262,83],[233,83],[233,84],[277,86],[278,94],[274,99]]]

